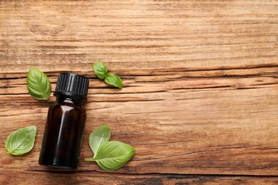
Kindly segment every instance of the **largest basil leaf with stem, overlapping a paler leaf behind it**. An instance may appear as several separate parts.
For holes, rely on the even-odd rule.
[[[123,142],[103,142],[96,158],[85,159],[95,161],[105,171],[115,171],[125,165],[135,155],[135,149]]]

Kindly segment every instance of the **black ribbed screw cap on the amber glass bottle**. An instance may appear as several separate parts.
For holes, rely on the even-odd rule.
[[[76,100],[86,101],[88,86],[89,80],[83,75],[61,73],[53,95],[68,95]]]

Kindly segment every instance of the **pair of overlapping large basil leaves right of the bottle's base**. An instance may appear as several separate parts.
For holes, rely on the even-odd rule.
[[[95,156],[93,158],[86,158],[85,161],[96,162],[98,166],[105,171],[115,171],[133,158],[135,149],[123,142],[108,142],[108,136],[110,137],[108,125],[102,125],[91,133],[89,144]],[[103,142],[105,140],[107,140],[107,142]],[[96,151],[92,146],[98,146],[98,144],[100,145]]]

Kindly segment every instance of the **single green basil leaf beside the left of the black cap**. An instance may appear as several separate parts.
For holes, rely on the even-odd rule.
[[[37,100],[48,100],[51,93],[51,84],[46,74],[36,68],[31,68],[27,75],[29,94]]]

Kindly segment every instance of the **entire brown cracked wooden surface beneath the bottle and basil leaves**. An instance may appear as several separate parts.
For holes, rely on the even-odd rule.
[[[0,184],[278,184],[277,39],[275,0],[0,1]],[[64,71],[90,78],[78,171],[38,165],[49,102],[29,95],[30,68],[52,89]],[[118,171],[83,160],[103,124],[137,151]],[[6,154],[28,125],[34,149]]]

